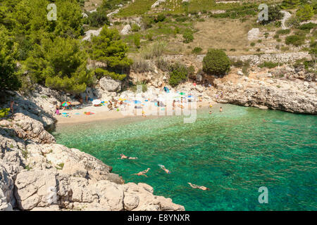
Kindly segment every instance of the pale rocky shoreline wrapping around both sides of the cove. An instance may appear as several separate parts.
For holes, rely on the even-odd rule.
[[[175,60],[194,65],[195,70],[201,68],[197,58]],[[147,91],[157,92],[168,86],[169,75],[154,63],[151,67],[147,72],[132,71],[129,79],[145,82]],[[104,77],[82,97],[105,100],[134,95],[122,91],[124,86]],[[1,105],[7,108],[11,100],[15,101],[15,115],[0,120],[0,210],[185,210],[170,198],[154,195],[147,184],[125,184],[122,177],[112,173],[111,166],[92,155],[57,144],[48,132],[56,124],[54,105],[77,99],[38,84],[33,88],[28,96],[11,92]],[[268,69],[252,65],[248,74],[232,67],[224,77],[195,72],[187,82],[168,88],[201,96],[208,102],[317,113],[316,75],[300,66],[285,64]]]

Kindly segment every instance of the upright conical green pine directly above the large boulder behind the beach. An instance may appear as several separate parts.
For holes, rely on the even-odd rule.
[[[98,37],[92,37],[91,58],[107,64],[109,70],[123,73],[132,60],[126,56],[128,46],[121,40],[118,30],[106,25]]]

